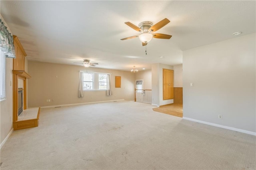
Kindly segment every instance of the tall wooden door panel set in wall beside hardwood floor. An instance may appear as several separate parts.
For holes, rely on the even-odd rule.
[[[173,99],[173,70],[163,69],[163,100]]]

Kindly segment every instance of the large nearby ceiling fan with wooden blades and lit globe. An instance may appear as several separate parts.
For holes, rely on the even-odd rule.
[[[122,38],[121,40],[128,40],[132,38],[139,37],[140,41],[142,42],[142,46],[146,46],[148,42],[152,38],[161,38],[161,39],[170,39],[172,36],[167,34],[160,34],[160,33],[153,33],[160,28],[164,27],[166,24],[168,24],[170,20],[167,18],[164,18],[163,20],[159,21],[158,23],[154,24],[150,21],[144,21],[139,24],[139,26],[136,26],[132,24],[131,22],[124,22],[126,25],[130,26],[134,30],[140,32],[140,35],[136,36],[130,36],[126,38]]]

